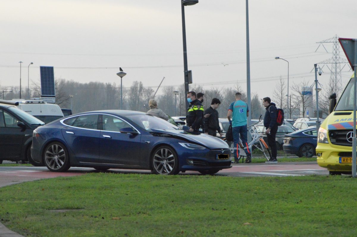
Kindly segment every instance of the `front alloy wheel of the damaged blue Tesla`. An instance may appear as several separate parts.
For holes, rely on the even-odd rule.
[[[174,149],[169,146],[157,148],[152,156],[152,168],[156,174],[178,174],[178,159]]]

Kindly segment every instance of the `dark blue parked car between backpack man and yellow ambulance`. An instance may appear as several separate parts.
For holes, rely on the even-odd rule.
[[[312,157],[315,155],[316,145],[316,127],[308,127],[285,135],[283,149],[284,152],[295,154],[299,157]]]

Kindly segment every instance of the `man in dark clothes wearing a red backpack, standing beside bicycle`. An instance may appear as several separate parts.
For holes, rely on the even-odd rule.
[[[275,136],[278,130],[277,108],[275,106],[275,103],[272,103],[269,97],[263,98],[263,105],[266,109],[264,115],[264,127],[266,128],[265,133],[267,134],[268,144],[271,149],[271,158],[269,161],[266,162],[277,163],[278,162],[278,160],[276,159],[277,147],[275,142]]]

